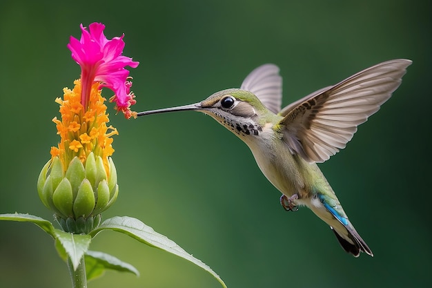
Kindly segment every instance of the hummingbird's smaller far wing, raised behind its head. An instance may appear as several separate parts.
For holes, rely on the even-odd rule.
[[[273,113],[278,113],[282,106],[282,77],[274,64],[264,64],[255,68],[244,79],[242,90],[252,92],[259,101]]]

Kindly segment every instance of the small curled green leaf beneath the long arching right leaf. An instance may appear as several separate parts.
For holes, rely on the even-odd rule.
[[[106,269],[112,269],[121,272],[131,272],[136,276],[139,276],[139,272],[137,269],[135,269],[135,267],[107,253],[87,251],[84,257],[86,259],[87,280],[92,280],[102,276]]]

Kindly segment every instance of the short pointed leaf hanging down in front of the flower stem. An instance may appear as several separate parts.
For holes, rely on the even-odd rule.
[[[84,253],[88,250],[88,246],[92,238],[86,234],[72,234],[61,231],[59,229],[54,230],[55,238],[59,241],[63,249],[68,254],[74,270],[77,270],[79,260],[84,256]],[[56,243],[56,247],[57,247]],[[62,256],[61,250],[57,247],[59,255]]]

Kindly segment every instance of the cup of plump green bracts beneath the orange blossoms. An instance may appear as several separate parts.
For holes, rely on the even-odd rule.
[[[64,231],[88,233],[101,221],[100,213],[117,199],[119,186],[114,162],[106,171],[101,157],[90,153],[85,166],[78,157],[63,171],[59,157],[48,161],[37,180],[39,198],[54,211]]]

